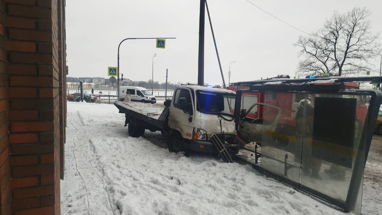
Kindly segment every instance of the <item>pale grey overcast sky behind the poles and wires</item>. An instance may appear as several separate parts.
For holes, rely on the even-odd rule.
[[[303,30],[319,29],[334,10],[353,7],[372,11],[372,31],[382,30],[381,0],[250,0],[281,20]],[[107,77],[117,67],[117,48],[128,37],[176,37],[165,49],[155,40],[128,40],[120,48],[120,73],[134,81],[197,83],[199,0],[66,0],[67,65],[70,77]],[[208,0],[212,25],[228,83],[276,75],[294,76],[303,34],[254,7],[246,0]],[[381,41],[381,39],[380,39]],[[204,81],[221,85],[219,64],[206,11]],[[374,66],[379,70],[379,60]],[[374,73],[375,75],[378,75]]]

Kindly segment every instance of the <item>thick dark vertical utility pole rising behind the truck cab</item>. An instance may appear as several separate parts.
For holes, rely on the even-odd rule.
[[[200,0],[199,13],[199,58],[197,67],[197,85],[204,85],[204,0]]]

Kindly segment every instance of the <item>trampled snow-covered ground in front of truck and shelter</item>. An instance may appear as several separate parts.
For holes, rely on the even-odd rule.
[[[169,153],[159,132],[129,137],[113,105],[68,102],[67,116],[64,215],[343,214],[250,166]],[[381,155],[373,153],[379,158],[367,163],[363,214],[382,210]]]

